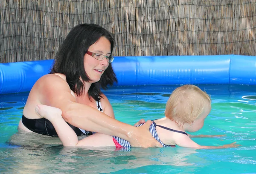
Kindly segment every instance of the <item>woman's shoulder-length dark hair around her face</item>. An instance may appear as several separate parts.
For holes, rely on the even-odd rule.
[[[89,47],[104,36],[111,43],[111,53],[115,45],[113,35],[106,29],[96,24],[80,24],[75,26],[67,35],[63,44],[55,55],[55,61],[50,74],[61,73],[66,75],[67,83],[70,89],[77,96],[84,92],[84,84],[80,80],[90,81],[90,78],[84,70],[84,55]],[[116,75],[113,72],[112,65],[109,63],[108,68],[102,74],[100,80],[93,83],[88,91],[89,97],[96,101],[102,97],[101,87],[108,89],[108,85],[117,82]]]

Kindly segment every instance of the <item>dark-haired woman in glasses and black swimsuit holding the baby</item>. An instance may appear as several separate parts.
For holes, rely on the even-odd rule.
[[[111,57],[115,41],[110,32],[95,24],[74,27],[61,45],[50,74],[32,87],[19,128],[57,136],[52,124],[36,112],[37,104],[61,109],[77,135],[99,132],[118,136],[134,147],[161,147],[145,126],[133,127],[114,119],[113,109],[101,92],[116,80]]]

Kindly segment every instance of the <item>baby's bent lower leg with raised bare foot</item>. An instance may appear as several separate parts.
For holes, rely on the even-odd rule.
[[[61,116],[61,110],[56,107],[38,104],[35,111],[42,117],[48,119],[55,128],[64,146],[76,146],[78,138],[72,128]]]

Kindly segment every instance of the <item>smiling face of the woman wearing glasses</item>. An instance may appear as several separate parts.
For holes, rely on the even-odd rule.
[[[111,43],[107,38],[101,37],[98,41],[89,47],[88,51],[110,56]],[[104,58],[102,61],[99,61],[88,54],[84,55],[84,70],[91,80],[90,83],[99,81],[102,74],[108,68],[108,65],[109,63],[106,58]]]

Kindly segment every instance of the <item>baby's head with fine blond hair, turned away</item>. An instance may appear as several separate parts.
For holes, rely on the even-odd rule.
[[[186,131],[201,129],[204,119],[211,110],[211,99],[207,93],[195,85],[184,85],[172,92],[166,103],[165,116]]]

